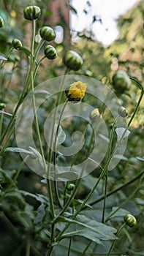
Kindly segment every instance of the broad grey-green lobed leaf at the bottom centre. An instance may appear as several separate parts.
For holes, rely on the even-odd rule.
[[[60,222],[72,223],[67,229],[67,233],[64,233],[62,238],[83,236],[91,241],[95,241],[97,244],[102,244],[101,240],[113,240],[116,238],[114,233],[116,233],[117,230],[115,230],[115,228],[96,222],[96,220],[89,219],[84,215],[77,215],[76,220],[64,217],[58,220]]]

